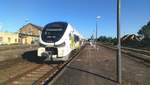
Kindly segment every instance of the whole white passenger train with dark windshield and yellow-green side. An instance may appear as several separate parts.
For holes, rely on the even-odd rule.
[[[38,57],[50,61],[67,61],[71,52],[83,45],[83,36],[68,22],[57,21],[45,25],[39,36]]]

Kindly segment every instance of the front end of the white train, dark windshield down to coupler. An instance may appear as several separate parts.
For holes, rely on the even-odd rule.
[[[40,36],[40,48],[37,55],[50,61],[66,61],[71,49],[68,47],[68,23],[54,22],[47,24]]]

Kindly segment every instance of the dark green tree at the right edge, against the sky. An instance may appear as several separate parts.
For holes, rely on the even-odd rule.
[[[150,21],[138,31],[138,34],[150,39]]]

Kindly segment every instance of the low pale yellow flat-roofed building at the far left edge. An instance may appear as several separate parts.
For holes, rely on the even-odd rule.
[[[0,44],[18,44],[18,33],[0,32]]]

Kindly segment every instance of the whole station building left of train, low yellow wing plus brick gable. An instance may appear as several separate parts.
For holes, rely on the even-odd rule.
[[[28,23],[19,29],[19,32],[0,32],[2,44],[38,44],[42,27]]]

